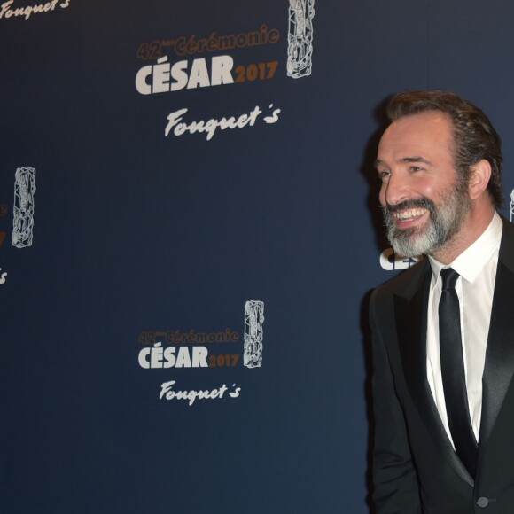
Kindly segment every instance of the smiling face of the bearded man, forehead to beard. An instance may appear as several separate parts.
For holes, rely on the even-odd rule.
[[[451,245],[470,210],[466,184],[455,169],[451,128],[444,113],[414,114],[393,121],[378,145],[387,237],[405,257]]]

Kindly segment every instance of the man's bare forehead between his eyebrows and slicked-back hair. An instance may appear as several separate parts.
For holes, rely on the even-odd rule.
[[[452,124],[446,113],[429,111],[393,121],[378,144],[378,160],[451,153]]]

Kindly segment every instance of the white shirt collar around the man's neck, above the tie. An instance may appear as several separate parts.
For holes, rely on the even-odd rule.
[[[455,269],[467,282],[472,283],[479,275],[480,270],[500,247],[502,229],[502,218],[495,212],[487,229],[482,232],[480,237],[472,245],[468,246],[463,253],[460,253],[449,266]],[[434,259],[431,255],[428,256],[428,260],[432,266],[434,278],[432,284],[435,285],[437,284],[440,270],[447,268],[447,266],[437,259]]]

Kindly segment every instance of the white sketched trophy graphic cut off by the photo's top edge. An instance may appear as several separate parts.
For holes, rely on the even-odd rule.
[[[312,70],[312,19],[314,0],[289,0],[287,35],[287,75],[300,79]]]

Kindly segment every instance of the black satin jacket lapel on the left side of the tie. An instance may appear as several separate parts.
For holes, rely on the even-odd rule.
[[[431,274],[432,269],[427,263],[419,284],[415,284],[416,289],[407,291],[405,296],[393,297],[401,364],[413,403],[432,439],[456,473],[472,486],[473,479],[456,456],[440,421],[426,378],[426,311]]]

